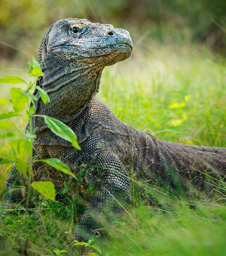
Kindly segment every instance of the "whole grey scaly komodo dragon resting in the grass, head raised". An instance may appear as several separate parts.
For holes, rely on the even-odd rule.
[[[42,118],[33,117],[32,127],[37,127],[33,158],[56,157],[74,174],[86,165],[81,186],[95,184],[95,189],[74,229],[74,238],[81,240],[100,227],[95,219],[97,213],[107,216],[107,208],[118,214],[123,211],[122,204],[131,202],[131,172],[137,179],[172,189],[176,188],[176,174],[185,193],[191,184],[209,193],[213,187],[206,187],[208,176],[203,173],[215,179],[226,173],[225,148],[157,140],[121,122],[96,98],[103,68],[127,59],[132,48],[126,30],[75,18],[53,23],[39,48],[38,61],[44,76],[37,79],[37,84],[48,93],[50,103],[44,104],[35,91],[35,114],[52,116],[69,125],[77,134],[81,150],[53,134]],[[69,181],[68,175],[42,162],[33,164],[33,173],[34,180],[51,180],[57,191],[63,188],[65,180]],[[18,175],[13,167],[8,188],[22,184]],[[5,203],[16,202],[21,197],[16,193],[8,194]]]

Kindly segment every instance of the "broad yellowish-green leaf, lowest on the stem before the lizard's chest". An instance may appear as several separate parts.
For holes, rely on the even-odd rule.
[[[56,190],[52,182],[35,181],[31,184],[31,186],[47,199],[55,201]]]

